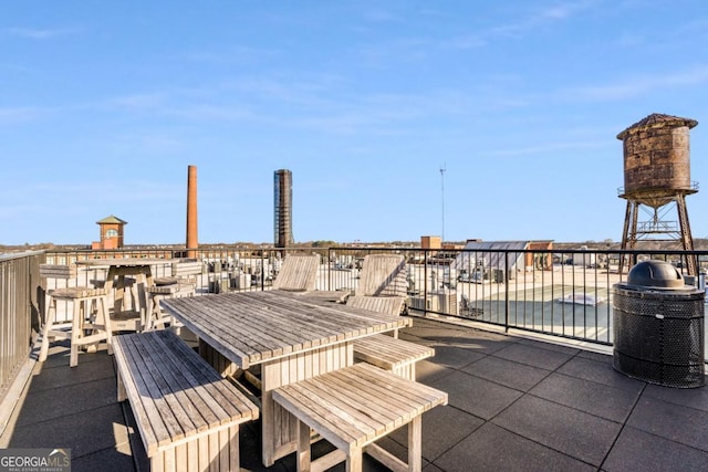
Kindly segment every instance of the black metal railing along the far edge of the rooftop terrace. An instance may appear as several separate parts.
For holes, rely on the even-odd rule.
[[[700,274],[687,276],[705,284],[708,251],[622,250],[424,250],[419,248],[242,248],[197,249],[204,264],[197,294],[269,290],[289,252],[316,252],[322,258],[317,290],[356,290],[366,254],[403,254],[407,264],[407,310],[421,316],[449,316],[600,345],[613,343],[612,287],[629,266],[644,259],[662,259],[680,271],[695,258]],[[146,256],[184,258],[187,249],[111,251],[48,251],[46,262],[80,259]],[[621,261],[629,264],[621,268]],[[168,275],[157,264],[155,276]],[[91,285],[105,270],[83,270],[76,284]],[[48,281],[48,284],[50,282]],[[701,289],[704,285],[701,285]],[[4,303],[4,296],[3,296]],[[60,307],[61,311],[61,307]]]

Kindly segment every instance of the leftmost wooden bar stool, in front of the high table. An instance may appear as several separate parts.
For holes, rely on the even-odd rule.
[[[45,279],[76,277],[75,265],[41,264],[40,276]],[[59,325],[67,322],[58,322],[56,307],[59,302],[72,305],[72,319],[70,331],[59,329]],[[71,349],[69,365],[79,365],[79,347],[95,345],[101,340],[107,344],[108,354],[113,354],[111,323],[107,313],[107,293],[104,289],[86,286],[66,286],[48,291],[46,317],[42,327],[42,344],[39,360],[46,360],[50,338],[70,339]]]

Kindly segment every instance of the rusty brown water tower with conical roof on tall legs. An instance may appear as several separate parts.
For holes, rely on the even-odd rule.
[[[690,180],[689,129],[696,125],[695,119],[655,113],[617,135],[624,145],[620,198],[627,200],[623,250],[635,249],[637,241],[653,240],[680,241],[684,250],[693,251],[686,196],[698,191],[698,183]],[[671,207],[678,222],[665,219]],[[648,209],[649,220],[638,221],[641,209]],[[686,259],[688,274],[697,275],[696,259]],[[621,273],[624,264],[623,255]]]

